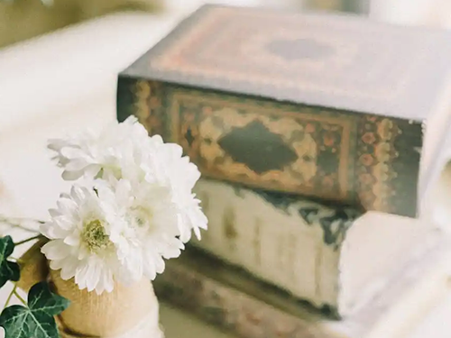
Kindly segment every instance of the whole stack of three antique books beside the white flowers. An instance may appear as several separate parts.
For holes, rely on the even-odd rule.
[[[349,14],[206,5],[180,23],[117,90],[120,121],[203,174],[209,229],[159,296],[246,338],[399,337],[421,307],[408,298],[445,285],[428,216],[449,59],[448,32]]]

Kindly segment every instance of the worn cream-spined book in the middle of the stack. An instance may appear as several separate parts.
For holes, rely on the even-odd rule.
[[[443,236],[425,221],[362,215],[350,207],[213,179],[200,178],[194,192],[208,231],[192,245],[339,316],[352,313]]]

